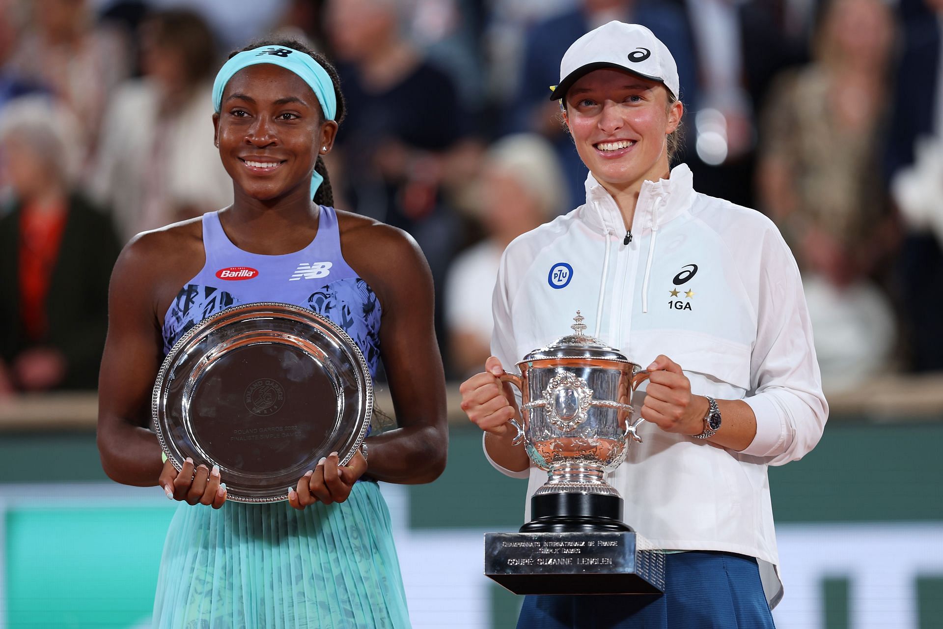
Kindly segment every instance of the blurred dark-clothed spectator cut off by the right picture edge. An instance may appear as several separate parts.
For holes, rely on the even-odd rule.
[[[911,367],[943,370],[943,0],[902,4],[903,54],[897,68],[888,164],[907,233],[900,267],[902,316]]]

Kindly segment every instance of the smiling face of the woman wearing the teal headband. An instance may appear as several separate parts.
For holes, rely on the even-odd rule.
[[[338,129],[322,119],[314,91],[297,74],[269,63],[234,74],[213,121],[237,196],[241,190],[259,201],[289,194],[310,200],[315,161],[330,151]]]

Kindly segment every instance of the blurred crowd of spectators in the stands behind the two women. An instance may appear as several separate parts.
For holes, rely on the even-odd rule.
[[[584,202],[548,88],[614,19],[678,63],[696,189],[782,230],[826,388],[943,370],[943,0],[0,0],[0,394],[95,388],[115,258],[231,202],[212,79],[276,32],[336,61],[337,206],[419,242],[478,371],[505,245]]]

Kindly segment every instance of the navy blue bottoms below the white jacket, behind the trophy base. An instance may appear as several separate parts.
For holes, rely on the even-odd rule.
[[[756,559],[665,557],[665,594],[527,596],[518,629],[774,629]]]

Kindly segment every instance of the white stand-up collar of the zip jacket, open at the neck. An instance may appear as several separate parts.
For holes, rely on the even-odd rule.
[[[694,200],[694,175],[687,164],[678,164],[671,169],[668,179],[645,181],[638,194],[636,213],[632,229],[640,232],[668,223],[691,206]],[[623,234],[625,226],[616,200],[608,190],[596,181],[590,173],[586,181],[587,205],[586,220],[592,227],[603,233]],[[657,206],[657,207],[656,207]]]

